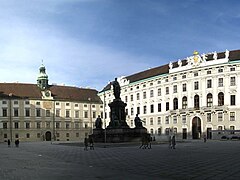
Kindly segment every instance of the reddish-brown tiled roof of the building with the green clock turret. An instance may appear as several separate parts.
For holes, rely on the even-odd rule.
[[[50,85],[48,90],[54,100],[89,102],[91,99],[91,102],[102,103],[95,89]],[[14,98],[42,99],[36,84],[0,83],[0,98],[8,98],[9,94]]]

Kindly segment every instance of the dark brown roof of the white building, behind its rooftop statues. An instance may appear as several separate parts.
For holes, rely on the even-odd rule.
[[[219,52],[217,53],[217,56],[219,59],[224,58],[225,52]],[[212,60],[213,60],[213,53],[206,54],[206,61],[212,61]],[[229,61],[235,61],[235,60],[240,60],[240,50],[229,51]],[[187,60],[183,59],[182,66],[185,66],[185,65],[187,65]],[[173,62],[173,67],[177,67],[177,66],[178,66],[177,61]],[[169,64],[165,64],[165,65],[151,68],[142,72],[138,72],[136,74],[132,74],[130,76],[126,76],[125,78],[129,80],[130,83],[132,83],[132,82],[136,82],[143,79],[147,79],[147,78],[151,78],[151,77],[159,76],[163,74],[168,74],[168,73],[169,73]],[[108,84],[107,86],[104,87],[104,89],[101,92],[109,90],[110,88],[111,87]]]

